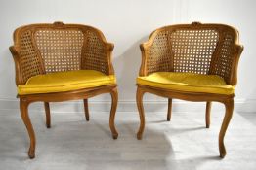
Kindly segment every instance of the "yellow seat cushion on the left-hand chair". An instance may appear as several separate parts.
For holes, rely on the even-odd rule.
[[[95,70],[77,70],[31,77],[25,85],[18,85],[18,93],[23,95],[62,92],[115,84],[114,75],[107,76]]]

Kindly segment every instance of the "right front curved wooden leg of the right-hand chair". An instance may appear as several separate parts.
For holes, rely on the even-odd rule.
[[[225,149],[223,140],[224,140],[224,136],[228,128],[228,125],[230,123],[230,120],[232,119],[233,109],[234,109],[234,100],[231,99],[226,101],[225,108],[226,108],[226,113],[222,122],[220,134],[219,134],[219,150],[220,150],[220,157],[222,158],[224,158],[226,155],[226,149]]]

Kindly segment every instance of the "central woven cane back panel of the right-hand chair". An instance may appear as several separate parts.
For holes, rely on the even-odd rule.
[[[216,49],[216,30],[177,30],[170,34],[174,72],[207,74]]]

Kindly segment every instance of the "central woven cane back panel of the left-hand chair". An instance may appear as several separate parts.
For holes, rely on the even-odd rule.
[[[84,36],[77,29],[39,29],[35,41],[46,73],[79,70]]]

